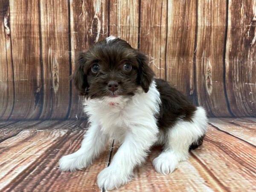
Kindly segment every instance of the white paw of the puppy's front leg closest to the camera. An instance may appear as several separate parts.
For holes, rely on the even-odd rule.
[[[128,183],[129,180],[129,176],[126,176],[118,168],[111,166],[103,169],[97,177],[99,188],[105,190],[118,189],[121,185]]]

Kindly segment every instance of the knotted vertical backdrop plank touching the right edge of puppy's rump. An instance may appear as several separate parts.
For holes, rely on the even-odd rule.
[[[224,93],[226,0],[198,0],[196,84],[198,104],[210,116],[230,116]],[[218,8],[218,9],[217,9]]]

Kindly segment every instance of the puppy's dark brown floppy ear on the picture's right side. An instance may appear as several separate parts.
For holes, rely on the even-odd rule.
[[[137,62],[139,64],[138,83],[147,93],[153,80],[154,72],[148,65],[147,56],[140,51],[137,51]]]

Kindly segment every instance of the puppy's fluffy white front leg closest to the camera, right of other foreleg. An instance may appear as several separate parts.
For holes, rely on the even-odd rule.
[[[134,167],[144,162],[147,151],[156,140],[157,130],[151,132],[147,128],[137,127],[137,131],[134,132],[126,135],[110,166],[99,173],[99,188],[112,190],[128,183]]]

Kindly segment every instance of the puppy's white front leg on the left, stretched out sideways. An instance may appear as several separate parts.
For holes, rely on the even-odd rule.
[[[86,168],[105,148],[108,137],[102,134],[98,125],[91,125],[82,141],[81,148],[73,154],[61,157],[61,171],[76,171]]]

